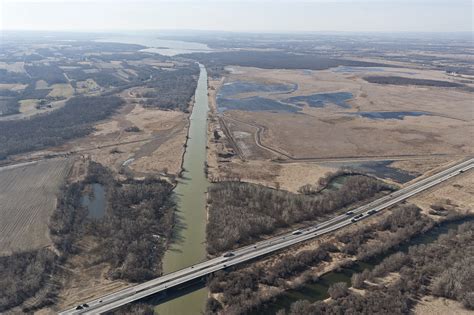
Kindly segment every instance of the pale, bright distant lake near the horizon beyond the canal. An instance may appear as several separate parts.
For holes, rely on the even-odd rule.
[[[159,35],[117,35],[97,40],[103,43],[123,43],[142,45],[149,48],[142,51],[153,52],[164,56],[174,56],[178,54],[189,54],[194,52],[212,52],[206,44],[185,42],[179,40],[159,39]]]

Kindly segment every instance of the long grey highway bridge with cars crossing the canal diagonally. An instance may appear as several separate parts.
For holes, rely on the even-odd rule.
[[[142,284],[131,286],[92,301],[84,301],[80,306],[78,305],[72,309],[65,310],[60,314],[101,314],[114,310],[130,302],[200,279],[218,270],[248,262],[263,255],[279,251],[289,246],[333,232],[347,225],[354,224],[355,222],[364,220],[372,214],[393,206],[394,204],[417,193],[466,172],[473,167],[474,159],[466,160],[390,195],[384,196],[320,224],[233,250],[232,252],[226,253],[222,256],[169,273]]]

